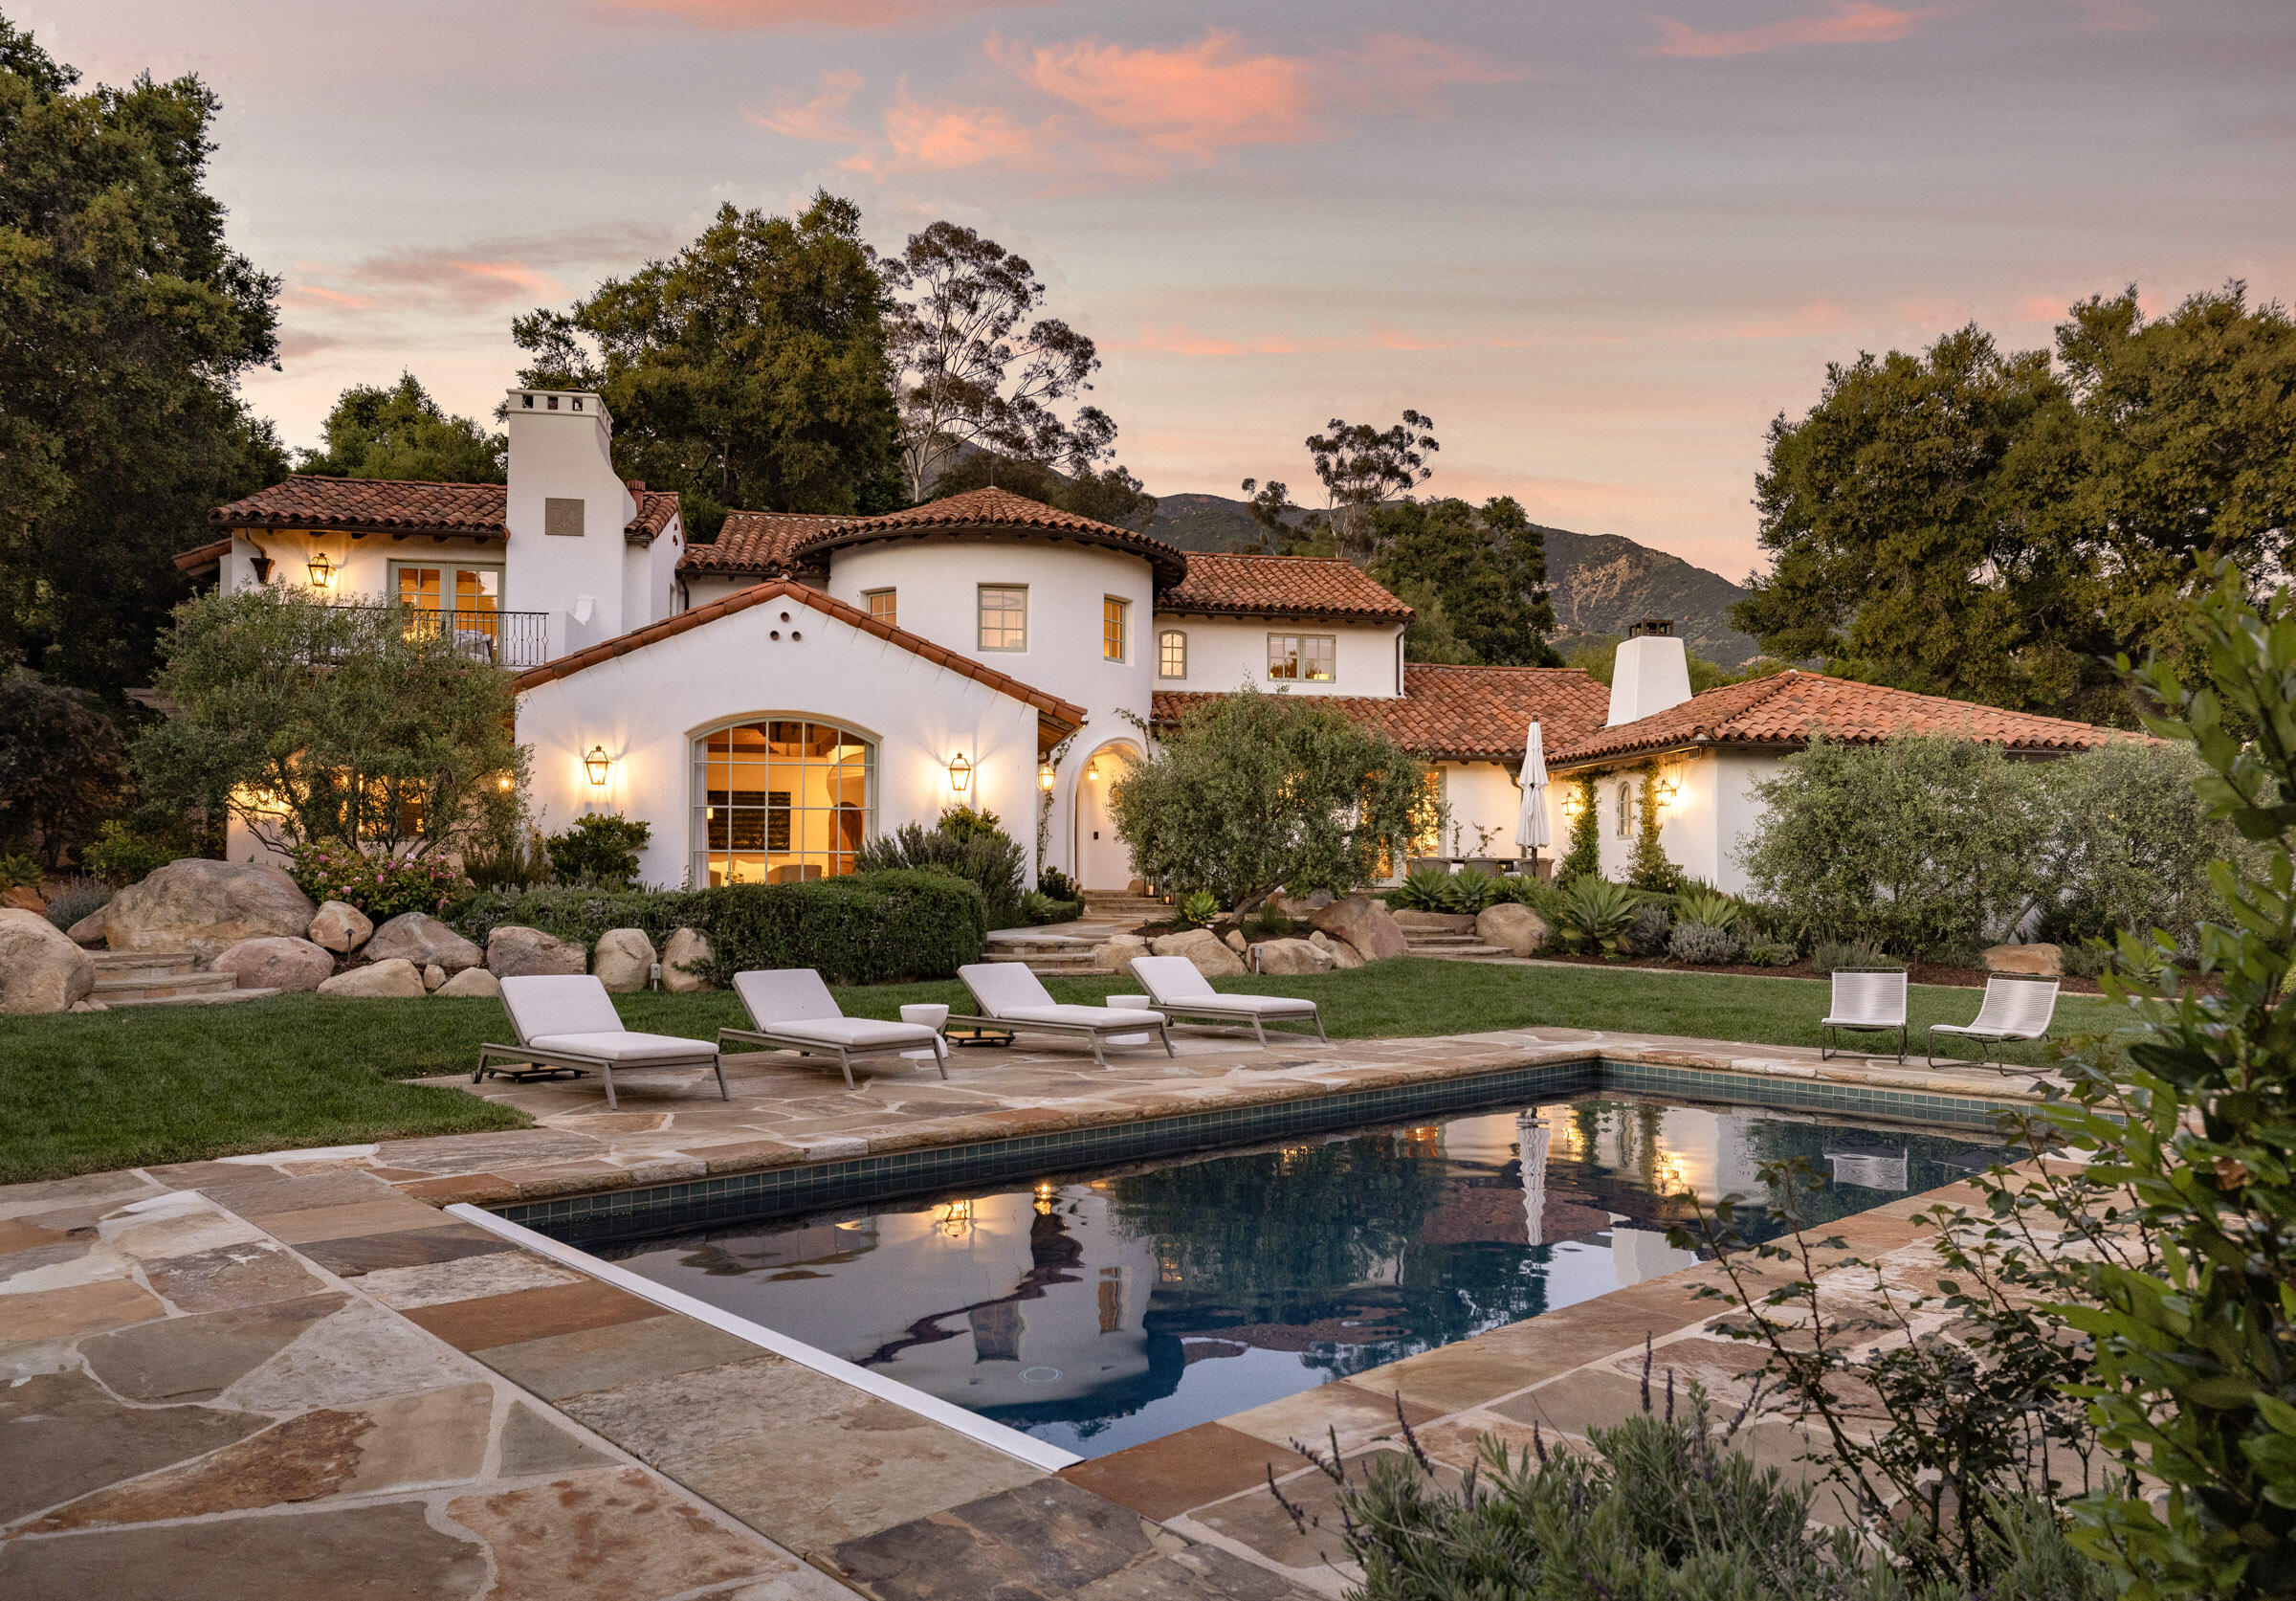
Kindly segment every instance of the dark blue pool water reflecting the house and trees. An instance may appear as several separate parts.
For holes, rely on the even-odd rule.
[[[1081,1456],[1699,1261],[1667,1243],[1761,1162],[1832,1220],[1998,1146],[1591,1096],[900,1197],[608,1247],[625,1268]],[[1750,1227],[1775,1233],[1775,1217]]]

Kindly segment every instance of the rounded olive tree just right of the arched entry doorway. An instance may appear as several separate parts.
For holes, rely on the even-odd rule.
[[[1355,889],[1442,827],[1424,767],[1316,696],[1205,701],[1111,790],[1132,866],[1249,912],[1277,889]]]

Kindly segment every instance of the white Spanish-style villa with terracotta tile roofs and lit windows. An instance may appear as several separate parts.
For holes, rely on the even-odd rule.
[[[1692,696],[1662,625],[1621,645],[1612,689],[1407,664],[1410,606],[1345,560],[1189,554],[1003,489],[889,517],[732,512],[689,544],[675,494],[615,475],[611,430],[597,395],[517,388],[507,485],[296,475],[216,508],[218,537],[177,565],[411,609],[517,668],[537,822],[643,818],[652,884],[845,873],[866,838],[964,802],[1031,857],[1042,815],[1035,866],[1120,891],[1109,781],[1143,728],[1247,682],[1332,696],[1430,763],[1451,829],[1428,854],[1520,854],[1536,719],[1550,836],[1598,776],[1616,875],[1630,774],[1655,763],[1667,854],[1724,889],[1743,887],[1754,781],[1812,735],[1949,728],[2032,756],[2110,737],[1814,673]]]

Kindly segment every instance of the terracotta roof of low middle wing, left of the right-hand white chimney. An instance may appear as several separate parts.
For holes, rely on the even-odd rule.
[[[1169,726],[1217,694],[1159,689],[1150,721]],[[1522,760],[1531,719],[1548,751],[1603,726],[1609,689],[1575,666],[1437,666],[1407,662],[1401,696],[1329,696],[1421,760]]]

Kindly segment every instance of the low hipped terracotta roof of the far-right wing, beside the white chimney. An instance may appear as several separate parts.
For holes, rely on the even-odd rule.
[[[1917,696],[1851,678],[1789,668],[1775,678],[1724,685],[1681,705],[1616,728],[1596,728],[1577,744],[1548,747],[1550,765],[1582,765],[1685,744],[1800,749],[1812,735],[1880,744],[1913,733],[1954,733],[2011,751],[2087,751],[2105,740],[2140,735],[2062,717],[2004,712],[1972,701]]]

